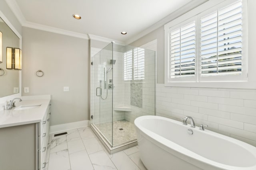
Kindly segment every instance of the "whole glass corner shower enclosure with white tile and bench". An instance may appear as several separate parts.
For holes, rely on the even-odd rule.
[[[112,42],[91,61],[92,129],[110,148],[136,145],[134,119],[155,115],[155,51]]]

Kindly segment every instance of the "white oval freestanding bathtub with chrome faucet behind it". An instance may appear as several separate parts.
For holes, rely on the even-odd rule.
[[[134,124],[148,170],[256,170],[256,147],[242,141],[160,116]]]

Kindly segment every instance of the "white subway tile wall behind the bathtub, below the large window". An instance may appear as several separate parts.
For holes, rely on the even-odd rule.
[[[179,88],[156,84],[156,115],[196,125],[256,147],[256,89]]]

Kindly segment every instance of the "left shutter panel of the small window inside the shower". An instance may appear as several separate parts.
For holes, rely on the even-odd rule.
[[[132,50],[124,53],[124,80],[132,80]]]

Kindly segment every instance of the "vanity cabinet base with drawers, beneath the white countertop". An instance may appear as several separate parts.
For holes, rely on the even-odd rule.
[[[40,122],[0,128],[0,170],[44,170],[50,130],[50,104],[44,108]],[[16,115],[12,113],[9,116]]]

